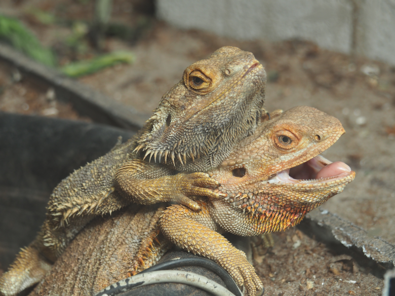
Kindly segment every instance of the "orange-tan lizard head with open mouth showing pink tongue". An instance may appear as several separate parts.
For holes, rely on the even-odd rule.
[[[249,217],[250,235],[297,224],[354,180],[348,165],[319,155],[344,132],[338,119],[295,107],[262,123],[234,148],[213,174],[228,207]]]

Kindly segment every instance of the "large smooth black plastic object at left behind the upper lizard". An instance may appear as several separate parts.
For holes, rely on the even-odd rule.
[[[106,125],[0,112],[0,268],[40,229],[52,189],[134,132]]]

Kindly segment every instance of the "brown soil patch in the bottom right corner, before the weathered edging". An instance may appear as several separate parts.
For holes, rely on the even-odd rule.
[[[277,233],[274,241],[265,255],[254,254],[265,296],[382,294],[381,279],[298,229]]]

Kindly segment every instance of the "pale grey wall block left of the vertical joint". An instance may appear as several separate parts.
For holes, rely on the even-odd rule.
[[[352,5],[348,0],[158,0],[158,17],[180,28],[241,40],[315,41],[350,52]]]

